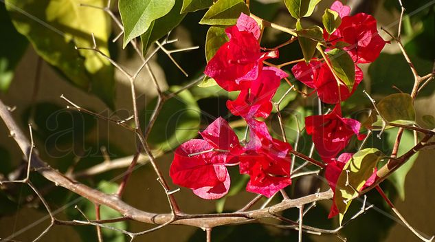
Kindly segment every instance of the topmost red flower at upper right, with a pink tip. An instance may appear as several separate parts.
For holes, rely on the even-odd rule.
[[[340,6],[341,5],[341,6]],[[376,60],[386,41],[377,32],[376,19],[370,14],[358,13],[347,16],[350,8],[342,3],[333,3],[331,10],[339,12],[342,23],[338,29],[328,36],[324,31],[324,39],[335,45],[338,41],[344,41],[349,45],[344,47],[355,63],[371,63]]]

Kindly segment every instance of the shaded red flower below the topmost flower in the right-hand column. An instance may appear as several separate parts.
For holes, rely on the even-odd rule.
[[[311,61],[309,64],[298,63],[291,68],[296,79],[306,86],[315,89],[322,102],[336,104],[348,99],[357,89],[363,79],[363,72],[355,65],[355,83],[352,91],[349,92],[346,85],[339,85],[331,69],[326,63]]]

